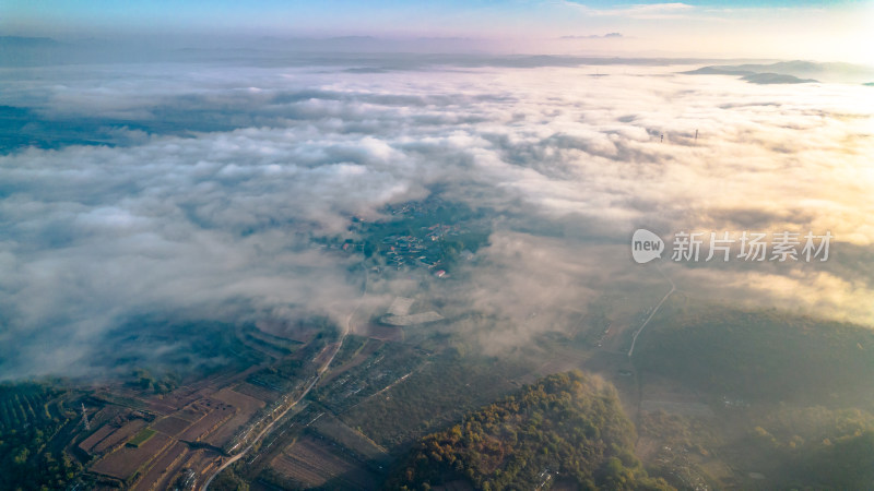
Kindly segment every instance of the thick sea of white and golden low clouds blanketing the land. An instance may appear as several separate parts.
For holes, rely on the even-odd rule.
[[[869,87],[677,73],[696,67],[356,67],[10,72],[0,104],[27,111],[23,131],[75,134],[0,156],[0,378],[86,373],[143,313],[342,319],[357,259],[311,239],[354,238],[353,216],[435,190],[494,213],[450,308],[501,320],[473,326],[488,346],[569,328],[642,272],[638,227],[830,230],[818,270],[669,273],[717,299],[874,323]]]

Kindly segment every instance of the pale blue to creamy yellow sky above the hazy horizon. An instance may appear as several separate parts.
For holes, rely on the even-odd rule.
[[[871,1],[10,0],[0,32],[63,39],[460,37],[508,52],[800,58],[874,63]],[[622,37],[599,39],[609,33]],[[578,38],[570,38],[578,37]],[[401,49],[403,47],[400,44]]]

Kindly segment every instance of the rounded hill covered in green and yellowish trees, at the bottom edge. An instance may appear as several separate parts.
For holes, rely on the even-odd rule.
[[[571,489],[672,489],[647,476],[634,456],[634,427],[613,386],[578,371],[559,373],[423,438],[387,488],[466,481],[482,490],[550,489],[557,483]]]

